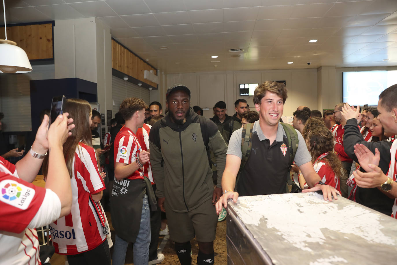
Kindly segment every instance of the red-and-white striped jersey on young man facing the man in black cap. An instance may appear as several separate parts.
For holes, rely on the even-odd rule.
[[[141,150],[137,135],[129,128],[123,126],[117,133],[116,139],[114,139],[114,162],[131,164],[138,159]],[[127,178],[130,180],[143,180],[142,168],[135,170]]]

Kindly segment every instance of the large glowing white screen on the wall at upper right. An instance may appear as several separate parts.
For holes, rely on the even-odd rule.
[[[397,83],[397,71],[343,72],[343,102],[378,105],[379,94]]]

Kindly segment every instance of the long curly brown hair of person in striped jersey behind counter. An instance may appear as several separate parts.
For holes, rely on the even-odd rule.
[[[328,152],[324,160],[332,168],[335,176],[338,178],[343,176],[342,163],[333,152],[333,135],[330,130],[325,126],[312,128],[307,134],[306,144],[312,156],[312,163],[314,163],[320,155]]]

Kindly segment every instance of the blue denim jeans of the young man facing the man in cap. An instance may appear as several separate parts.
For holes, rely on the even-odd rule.
[[[119,238],[116,234],[114,242],[114,251],[112,256],[113,265],[124,265],[125,253],[127,252],[128,241]],[[145,194],[143,198],[141,224],[135,243],[134,250],[134,265],[147,265],[149,261],[149,245],[150,245],[150,209],[148,203],[148,196]]]

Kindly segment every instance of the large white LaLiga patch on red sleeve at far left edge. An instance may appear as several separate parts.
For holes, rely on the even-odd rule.
[[[14,180],[3,180],[0,182],[0,187],[0,201],[22,210],[26,210],[29,207],[35,196],[33,188],[29,188]]]

